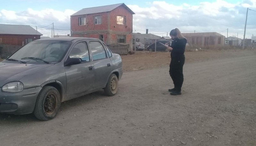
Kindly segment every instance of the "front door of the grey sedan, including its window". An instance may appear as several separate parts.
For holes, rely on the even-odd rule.
[[[93,63],[89,52],[85,41],[77,42],[70,51],[69,58],[80,58],[82,62],[65,66],[68,99],[82,96],[93,88]]]

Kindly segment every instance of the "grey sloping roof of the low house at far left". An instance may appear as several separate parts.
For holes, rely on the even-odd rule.
[[[29,25],[0,24],[0,34],[5,35],[43,35]]]

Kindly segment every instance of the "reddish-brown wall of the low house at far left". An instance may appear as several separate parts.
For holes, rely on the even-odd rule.
[[[22,42],[26,44],[28,38],[34,41],[40,39],[40,35],[0,35],[0,43],[22,46]]]

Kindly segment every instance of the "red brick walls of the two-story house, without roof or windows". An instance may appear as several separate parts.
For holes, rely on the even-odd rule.
[[[108,14],[109,14],[109,29],[108,29]],[[94,16],[101,15],[102,22],[99,25],[94,24]],[[125,16],[125,24],[117,24],[117,16]],[[86,24],[79,26],[79,18],[86,17]],[[74,37],[92,37],[100,38],[104,36],[106,44],[117,43],[117,35],[125,35],[125,44],[130,45],[132,49],[132,13],[124,6],[119,6],[111,12],[103,12],[97,14],[88,14],[71,17],[71,30]],[[97,31],[96,31],[97,30]]]

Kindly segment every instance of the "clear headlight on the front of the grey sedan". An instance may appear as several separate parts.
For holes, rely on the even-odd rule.
[[[23,84],[21,82],[10,82],[2,87],[4,92],[21,92],[23,91]]]

